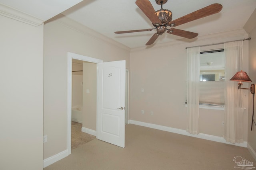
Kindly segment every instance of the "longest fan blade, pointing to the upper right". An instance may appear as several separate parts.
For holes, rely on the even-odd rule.
[[[190,21],[194,21],[200,18],[204,18],[206,16],[210,16],[212,14],[216,14],[222,10],[222,5],[221,4],[212,4],[209,6],[206,6],[200,10],[197,10],[195,12],[192,12],[190,14],[187,14],[186,16],[180,17],[176,20],[171,21],[168,25],[170,27],[175,27],[178,25],[181,25],[183,23],[187,23]]]

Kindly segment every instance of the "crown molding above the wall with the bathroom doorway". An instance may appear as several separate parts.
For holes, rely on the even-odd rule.
[[[108,43],[110,45],[115,45],[115,46],[122,48],[126,51],[130,51],[129,47],[122,45],[121,43],[118,43],[117,41],[114,41],[113,39],[110,39],[110,38],[106,37],[105,35],[102,35],[101,33],[98,33],[96,31],[94,31],[93,29],[90,29],[90,28],[78,23],[77,21],[74,21],[74,20],[64,16],[63,14],[59,14],[59,15],[51,18],[50,20],[46,21],[45,24],[47,24],[51,21],[56,21],[57,23],[60,23],[70,29],[73,29],[73,30],[83,33],[87,36],[90,36],[93,39],[96,39],[98,41],[104,41],[105,43]]]

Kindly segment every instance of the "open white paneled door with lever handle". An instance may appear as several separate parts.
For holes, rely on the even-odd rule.
[[[98,63],[97,135],[124,148],[125,61]]]

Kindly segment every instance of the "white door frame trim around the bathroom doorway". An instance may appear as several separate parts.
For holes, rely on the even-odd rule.
[[[71,154],[71,113],[72,113],[72,59],[87,61],[90,63],[103,63],[100,59],[78,55],[68,52],[68,103],[67,103],[67,149]],[[98,75],[98,73],[97,73]]]

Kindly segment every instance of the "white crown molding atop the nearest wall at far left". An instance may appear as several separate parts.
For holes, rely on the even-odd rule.
[[[44,20],[0,3],[0,15],[38,27]]]

